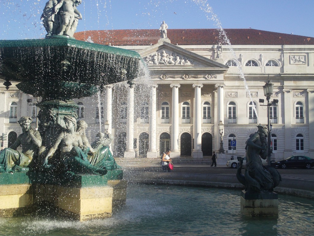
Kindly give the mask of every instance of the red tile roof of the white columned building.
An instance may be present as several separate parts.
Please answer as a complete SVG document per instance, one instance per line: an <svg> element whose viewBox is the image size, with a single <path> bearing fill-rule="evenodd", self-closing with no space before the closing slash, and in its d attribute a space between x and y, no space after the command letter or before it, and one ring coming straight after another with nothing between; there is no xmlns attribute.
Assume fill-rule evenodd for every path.
<svg viewBox="0 0 314 236"><path fill-rule="evenodd" d="M224 29L232 45L313 45L314 38L283 34L255 29ZM219 29L168 29L167 36L172 44L211 45L218 44ZM154 30L90 30L74 34L78 40L90 37L95 43L116 46L156 44L160 38Z"/></svg>

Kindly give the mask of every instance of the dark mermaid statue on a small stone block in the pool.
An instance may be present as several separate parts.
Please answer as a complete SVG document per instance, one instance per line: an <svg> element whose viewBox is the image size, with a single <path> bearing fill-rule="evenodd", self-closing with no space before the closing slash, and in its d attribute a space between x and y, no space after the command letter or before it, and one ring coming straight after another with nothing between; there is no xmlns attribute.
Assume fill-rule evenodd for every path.
<svg viewBox="0 0 314 236"><path fill-rule="evenodd" d="M237 170L237 178L245 185L245 190L250 193L259 193L262 191L272 192L273 188L278 186L281 181L279 172L271 166L263 166L261 158L267 158L268 145L266 127L257 126L258 131L255 132L246 141L246 165L244 175L241 174L243 158Z"/></svg>

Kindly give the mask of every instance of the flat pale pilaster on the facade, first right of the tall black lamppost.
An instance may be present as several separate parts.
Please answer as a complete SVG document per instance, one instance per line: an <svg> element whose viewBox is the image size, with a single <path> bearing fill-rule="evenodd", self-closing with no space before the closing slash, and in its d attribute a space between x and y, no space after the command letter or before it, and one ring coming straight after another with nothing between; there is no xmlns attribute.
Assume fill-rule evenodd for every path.
<svg viewBox="0 0 314 236"><path fill-rule="evenodd" d="M294 110L291 106L292 89L283 89L282 92L284 92L284 158L287 158L293 155L293 151L291 149L291 116Z"/></svg>

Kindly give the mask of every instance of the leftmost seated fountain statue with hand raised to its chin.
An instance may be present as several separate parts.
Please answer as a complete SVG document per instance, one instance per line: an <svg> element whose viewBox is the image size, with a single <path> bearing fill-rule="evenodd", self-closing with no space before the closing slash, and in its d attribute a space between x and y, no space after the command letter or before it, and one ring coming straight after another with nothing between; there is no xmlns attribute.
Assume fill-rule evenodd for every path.
<svg viewBox="0 0 314 236"><path fill-rule="evenodd" d="M0 152L0 172L27 172L35 166L38 148L41 146L41 136L30 126L32 118L22 116L18 121L23 133L15 143ZM22 152L16 149L22 145Z"/></svg>

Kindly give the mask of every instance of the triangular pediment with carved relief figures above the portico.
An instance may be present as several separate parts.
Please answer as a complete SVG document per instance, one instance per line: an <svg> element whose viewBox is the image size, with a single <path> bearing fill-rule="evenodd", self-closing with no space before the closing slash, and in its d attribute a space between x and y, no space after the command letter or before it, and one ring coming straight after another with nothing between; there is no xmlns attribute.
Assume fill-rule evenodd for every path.
<svg viewBox="0 0 314 236"><path fill-rule="evenodd" d="M219 62L165 41L154 44L138 53L149 67L219 68L225 70L229 68Z"/></svg>

